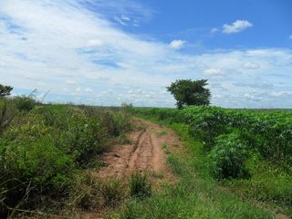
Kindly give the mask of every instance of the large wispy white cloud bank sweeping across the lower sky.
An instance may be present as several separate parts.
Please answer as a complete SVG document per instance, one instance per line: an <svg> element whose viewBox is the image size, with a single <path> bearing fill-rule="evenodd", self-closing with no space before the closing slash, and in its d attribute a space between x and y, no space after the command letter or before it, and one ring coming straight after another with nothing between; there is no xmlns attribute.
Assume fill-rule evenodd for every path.
<svg viewBox="0 0 292 219"><path fill-rule="evenodd" d="M110 18L78 2L0 1L0 14L7 17L0 19L2 83L12 85L17 93L51 89L47 101L78 98L78 103L92 104L88 99L95 99L94 104L98 105L120 105L126 101L136 106L174 107L175 101L165 91L166 86L179 78L206 78L214 93L213 104L292 108L287 93L275 96L290 90L289 48L177 52L167 43L122 31ZM106 5L108 1L92 2ZM125 10L117 15L129 16L131 21L137 17ZM18 28L12 31L12 25ZM260 68L255 68L255 64ZM246 70L251 68L255 70ZM236 86L238 81L242 83ZM265 83L257 86L258 81ZM94 92L86 92L86 88ZM251 89L256 92L251 93ZM255 98L260 94L262 98L256 102L247 99L245 93Z"/></svg>

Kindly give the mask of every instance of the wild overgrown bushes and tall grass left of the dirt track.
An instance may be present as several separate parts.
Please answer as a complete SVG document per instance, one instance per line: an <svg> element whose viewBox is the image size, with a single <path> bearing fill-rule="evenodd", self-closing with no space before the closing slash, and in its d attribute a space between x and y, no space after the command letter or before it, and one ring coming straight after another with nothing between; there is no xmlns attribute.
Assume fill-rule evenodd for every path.
<svg viewBox="0 0 292 219"><path fill-rule="evenodd" d="M120 110L0 99L0 217L68 199L82 170L130 127L129 115Z"/></svg>

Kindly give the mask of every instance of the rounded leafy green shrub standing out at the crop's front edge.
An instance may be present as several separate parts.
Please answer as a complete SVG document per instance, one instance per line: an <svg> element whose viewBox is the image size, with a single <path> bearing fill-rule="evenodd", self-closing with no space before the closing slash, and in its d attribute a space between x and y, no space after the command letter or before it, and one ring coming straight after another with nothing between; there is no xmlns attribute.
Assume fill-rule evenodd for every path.
<svg viewBox="0 0 292 219"><path fill-rule="evenodd" d="M214 149L209 154L211 168L217 179L248 176L245 168L248 157L245 143L235 132L216 138Z"/></svg>

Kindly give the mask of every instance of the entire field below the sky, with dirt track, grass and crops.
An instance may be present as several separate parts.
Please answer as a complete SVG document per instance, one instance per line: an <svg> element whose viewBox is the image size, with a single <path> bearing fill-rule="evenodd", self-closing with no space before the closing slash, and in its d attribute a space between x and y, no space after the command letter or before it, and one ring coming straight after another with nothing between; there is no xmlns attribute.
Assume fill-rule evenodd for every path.
<svg viewBox="0 0 292 219"><path fill-rule="evenodd" d="M0 99L1 218L290 218L292 111Z"/></svg>

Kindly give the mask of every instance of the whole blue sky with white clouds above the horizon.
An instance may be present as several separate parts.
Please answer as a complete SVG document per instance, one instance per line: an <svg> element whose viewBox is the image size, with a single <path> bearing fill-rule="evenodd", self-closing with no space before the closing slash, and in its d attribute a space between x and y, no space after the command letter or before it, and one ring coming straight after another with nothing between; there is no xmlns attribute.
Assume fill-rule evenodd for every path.
<svg viewBox="0 0 292 219"><path fill-rule="evenodd" d="M0 84L13 95L175 107L176 79L211 103L292 108L291 0L0 0Z"/></svg>

